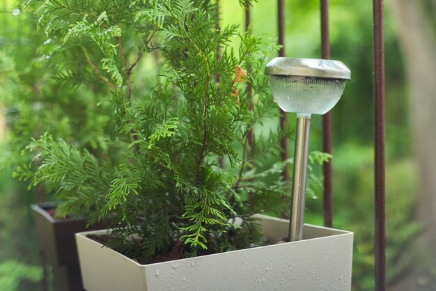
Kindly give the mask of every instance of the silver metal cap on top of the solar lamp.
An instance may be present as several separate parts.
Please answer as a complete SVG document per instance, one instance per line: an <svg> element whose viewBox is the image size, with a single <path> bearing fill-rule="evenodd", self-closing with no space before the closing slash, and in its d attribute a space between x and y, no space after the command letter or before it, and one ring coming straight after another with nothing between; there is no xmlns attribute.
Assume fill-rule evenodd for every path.
<svg viewBox="0 0 436 291"><path fill-rule="evenodd" d="M318 58L273 58L265 74L350 80L350 69L341 61Z"/></svg>

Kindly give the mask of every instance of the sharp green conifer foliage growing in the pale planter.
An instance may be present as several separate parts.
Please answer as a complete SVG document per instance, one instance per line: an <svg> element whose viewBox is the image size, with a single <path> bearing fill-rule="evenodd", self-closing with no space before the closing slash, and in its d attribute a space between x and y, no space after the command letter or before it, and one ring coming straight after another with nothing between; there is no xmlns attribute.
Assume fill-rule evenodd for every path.
<svg viewBox="0 0 436 291"><path fill-rule="evenodd" d="M97 81L106 93L100 103L113 111L114 132L102 136L102 152L48 133L27 146L40 163L35 184L63 200L59 214L85 209L91 223L112 223L109 245L143 262L171 258L179 241L185 256L265 243L250 217L288 208L289 184L279 173L292 162L279 162L279 139L289 132L249 142L252 130L279 114L262 74L274 41L237 36L237 26L217 30L212 1L24 6L40 14L57 79L72 88ZM238 49L231 48L235 38ZM147 65L153 60L157 66ZM262 171L272 158L277 164ZM311 156L313 163L327 158ZM315 177L309 187L319 183Z"/></svg>

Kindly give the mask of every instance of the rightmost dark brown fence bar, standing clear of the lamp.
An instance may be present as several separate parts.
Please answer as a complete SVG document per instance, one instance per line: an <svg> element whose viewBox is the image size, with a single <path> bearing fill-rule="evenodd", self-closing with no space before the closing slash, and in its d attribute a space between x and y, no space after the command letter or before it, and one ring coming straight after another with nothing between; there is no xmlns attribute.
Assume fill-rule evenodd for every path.
<svg viewBox="0 0 436 291"><path fill-rule="evenodd" d="M384 229L384 42L383 0L373 0L374 150L375 150L375 290L386 290Z"/></svg>

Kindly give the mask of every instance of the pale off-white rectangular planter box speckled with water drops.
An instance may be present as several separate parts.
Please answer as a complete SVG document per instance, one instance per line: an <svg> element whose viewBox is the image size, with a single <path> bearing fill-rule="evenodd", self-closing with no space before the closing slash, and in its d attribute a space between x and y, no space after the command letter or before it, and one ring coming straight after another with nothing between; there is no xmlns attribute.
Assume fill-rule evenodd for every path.
<svg viewBox="0 0 436 291"><path fill-rule="evenodd" d="M288 221L261 219L271 239L287 237ZM196 258L140 265L77 233L84 288L88 291L350 290L353 234L304 226L304 239Z"/></svg>

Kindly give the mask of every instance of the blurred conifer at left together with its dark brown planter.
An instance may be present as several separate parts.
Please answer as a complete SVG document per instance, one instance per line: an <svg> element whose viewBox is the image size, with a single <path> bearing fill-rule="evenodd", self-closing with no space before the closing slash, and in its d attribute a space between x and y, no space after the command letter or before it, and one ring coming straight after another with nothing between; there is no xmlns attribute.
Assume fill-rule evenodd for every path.
<svg viewBox="0 0 436 291"><path fill-rule="evenodd" d="M112 132L108 124L111 111L105 104L97 106L96 100L100 100L106 90L97 86L98 80L88 79L86 87L65 86L70 83L71 74L61 68L63 53L52 54L56 35L47 38L44 31L35 33L36 19L23 11L20 16L29 22L27 28L31 29L22 29L20 38L17 37L17 41L11 38L0 53L0 100L8 125L8 146L1 167L8 171L13 169L10 170L14 171L13 175L22 180L14 198L16 203L32 203L35 223L29 222L27 227L33 229L36 224L47 285L54 285L56 290L82 290L74 235L102 226L86 227L88 221L83 210L69 212L67 219L56 216L54 210L58 203L45 201L63 198L55 196L57 189L49 184L40 183L33 191L26 192L33 178L32 171L40 166L40 161L36 159L32 168L29 164L35 157L22 150L32 138L49 130L56 139L74 143L77 148L86 148L97 155L105 148L104 132ZM31 234L29 241L33 241ZM49 276L49 270L54 276Z"/></svg>

